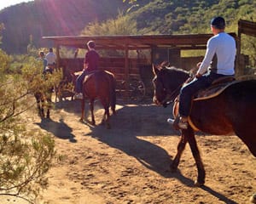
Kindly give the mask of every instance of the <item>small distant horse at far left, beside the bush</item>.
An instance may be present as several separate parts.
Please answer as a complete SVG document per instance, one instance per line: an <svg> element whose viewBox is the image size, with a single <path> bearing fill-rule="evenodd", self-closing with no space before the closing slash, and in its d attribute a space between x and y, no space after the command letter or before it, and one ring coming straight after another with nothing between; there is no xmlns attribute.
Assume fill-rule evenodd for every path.
<svg viewBox="0 0 256 204"><path fill-rule="evenodd" d="M44 79L47 80L47 75L52 74L51 70L46 70L44 72ZM51 96L52 96L52 92L54 87L45 87L45 85L43 85L41 88L39 88L40 90L37 90L34 92L34 97L37 101L37 108L38 108L38 116L44 118L45 114L44 114L44 109L46 108L46 118L49 118L49 110L52 106L52 100L51 100Z"/></svg>

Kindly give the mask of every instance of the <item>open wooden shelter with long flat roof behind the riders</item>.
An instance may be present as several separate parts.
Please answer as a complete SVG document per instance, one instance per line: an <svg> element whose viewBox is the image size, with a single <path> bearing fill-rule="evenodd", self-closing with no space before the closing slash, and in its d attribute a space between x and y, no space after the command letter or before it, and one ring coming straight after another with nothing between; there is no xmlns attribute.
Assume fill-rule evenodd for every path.
<svg viewBox="0 0 256 204"><path fill-rule="evenodd" d="M236 33L230 33L230 35L237 38ZM109 71L113 71L114 74L119 74L120 79L128 81L131 75L139 73L138 67L142 67L143 65L151 67L152 63L169 61L171 62L171 65L175 65L177 67L187 67L187 69L191 68L191 65L195 65L198 61L200 61L203 58L203 56L201 56L200 58L192 57L183 59L181 57L181 51L198 49L204 50L206 49L207 46L207 40L210 37L212 37L212 34L90 37L63 36L43 38L45 40L53 42L56 48L56 55L58 60L57 65L61 65L61 46L73 48L86 48L86 42L93 40L96 42L97 50L122 50L124 52L124 57L122 59L105 59L104 63L102 63L102 66L106 66L103 68ZM147 62L145 60L137 60L137 62L140 61L140 64L138 65L137 63L133 63L134 61L132 61L129 58L130 51L137 51L137 54L139 54L139 50L146 49L148 49L150 53L150 59L148 59ZM137 59L139 59L139 56L137 57ZM82 59L80 59L80 61L81 60ZM81 65L81 63L79 65ZM110 63L111 65L109 65ZM131 65L133 67L131 67ZM150 70L148 68L146 72L148 71L151 71L151 68ZM127 86L125 87L125 89L128 89Z"/></svg>

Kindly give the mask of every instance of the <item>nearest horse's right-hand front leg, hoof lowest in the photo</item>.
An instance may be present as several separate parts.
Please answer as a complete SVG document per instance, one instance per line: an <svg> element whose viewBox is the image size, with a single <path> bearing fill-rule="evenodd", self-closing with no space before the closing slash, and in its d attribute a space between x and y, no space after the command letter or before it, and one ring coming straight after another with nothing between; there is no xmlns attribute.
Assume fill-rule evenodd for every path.
<svg viewBox="0 0 256 204"><path fill-rule="evenodd" d="M195 185L201 186L205 184L206 171L203 162L201 161L200 151L198 150L198 146L196 144L194 130L191 127L189 127L187 130L183 130L183 133L185 137L188 139L189 146L192 151L192 155L195 159L195 164L197 167L198 175L195 181Z"/></svg>

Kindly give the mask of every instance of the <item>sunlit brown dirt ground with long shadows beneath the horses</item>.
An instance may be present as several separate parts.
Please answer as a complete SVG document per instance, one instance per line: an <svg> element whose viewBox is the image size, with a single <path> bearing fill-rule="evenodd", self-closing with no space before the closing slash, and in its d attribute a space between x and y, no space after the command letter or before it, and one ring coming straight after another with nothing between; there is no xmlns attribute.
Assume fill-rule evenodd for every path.
<svg viewBox="0 0 256 204"><path fill-rule="evenodd" d="M48 173L49 188L40 203L250 203L256 192L256 159L236 136L197 134L207 172L206 185L198 188L189 145L177 173L169 170L180 135L166 123L171 106L118 100L112 128L106 129L98 124L103 111L96 105L96 126L79 122L79 101L57 102L50 120L36 114L27 118L27 127L55 137L61 158ZM20 202L11 198L7 203Z"/></svg>

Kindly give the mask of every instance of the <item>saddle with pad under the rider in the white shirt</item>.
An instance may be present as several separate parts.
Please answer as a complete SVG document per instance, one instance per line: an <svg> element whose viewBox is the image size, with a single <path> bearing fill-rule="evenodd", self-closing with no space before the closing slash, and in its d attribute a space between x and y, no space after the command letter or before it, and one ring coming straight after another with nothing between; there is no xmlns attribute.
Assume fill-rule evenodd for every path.
<svg viewBox="0 0 256 204"><path fill-rule="evenodd" d="M209 88L202 89L195 94L193 100L211 99L236 82L238 81L236 81L235 77L220 77L214 80Z"/></svg>

